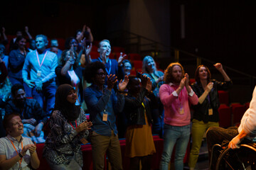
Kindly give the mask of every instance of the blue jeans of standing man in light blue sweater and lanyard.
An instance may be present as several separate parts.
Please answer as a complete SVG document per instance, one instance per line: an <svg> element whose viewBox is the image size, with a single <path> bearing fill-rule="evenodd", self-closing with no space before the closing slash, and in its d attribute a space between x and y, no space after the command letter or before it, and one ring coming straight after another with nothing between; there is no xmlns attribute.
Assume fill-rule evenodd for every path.
<svg viewBox="0 0 256 170"><path fill-rule="evenodd" d="M55 83L52 84L43 84L42 91L36 91L36 88L32 89L32 96L36 101L38 101L41 108L43 108L43 99L46 100L46 113L50 115L52 109L55 105L55 93L57 86Z"/></svg>

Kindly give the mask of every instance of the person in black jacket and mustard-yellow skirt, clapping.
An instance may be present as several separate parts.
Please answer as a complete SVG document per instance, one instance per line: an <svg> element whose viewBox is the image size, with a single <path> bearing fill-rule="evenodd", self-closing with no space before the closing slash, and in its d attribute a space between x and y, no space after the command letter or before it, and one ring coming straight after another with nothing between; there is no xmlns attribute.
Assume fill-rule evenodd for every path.
<svg viewBox="0 0 256 170"><path fill-rule="evenodd" d="M157 107L156 99L151 93L150 78L129 76L128 95L125 96L124 113L127 115L126 156L130 158L129 169L150 169L151 155L156 152L151 134L151 108ZM149 94L149 95L148 95ZM146 98L146 95L149 98Z"/></svg>

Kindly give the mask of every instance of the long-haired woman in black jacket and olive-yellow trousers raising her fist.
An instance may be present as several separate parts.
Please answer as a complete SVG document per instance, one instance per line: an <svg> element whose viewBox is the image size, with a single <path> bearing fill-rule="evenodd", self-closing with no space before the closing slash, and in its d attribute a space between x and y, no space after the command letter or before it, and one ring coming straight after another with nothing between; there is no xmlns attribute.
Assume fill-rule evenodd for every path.
<svg viewBox="0 0 256 170"><path fill-rule="evenodd" d="M225 73L222 64L216 63L214 67L223 75L225 81L211 80L208 67L200 65L196 69L196 82L191 86L198 96L198 104L193 106L192 148L188 162L190 169L194 169L196 166L203 134L208 128L219 126L218 90L228 90L232 85L232 81Z"/></svg>

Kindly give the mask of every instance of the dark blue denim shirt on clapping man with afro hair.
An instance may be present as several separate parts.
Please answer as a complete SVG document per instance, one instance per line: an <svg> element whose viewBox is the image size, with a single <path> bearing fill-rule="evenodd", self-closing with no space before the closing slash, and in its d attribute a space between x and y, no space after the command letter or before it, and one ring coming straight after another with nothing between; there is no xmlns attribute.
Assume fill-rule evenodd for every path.
<svg viewBox="0 0 256 170"><path fill-rule="evenodd" d="M124 96L115 94L114 90L107 90L103 87L103 93L98 86L92 84L85 89L85 103L90 113L92 130L99 135L111 136L111 131L117 135L117 125L115 124L115 113L122 112L124 108ZM103 113L107 114L107 121L103 121Z"/></svg>

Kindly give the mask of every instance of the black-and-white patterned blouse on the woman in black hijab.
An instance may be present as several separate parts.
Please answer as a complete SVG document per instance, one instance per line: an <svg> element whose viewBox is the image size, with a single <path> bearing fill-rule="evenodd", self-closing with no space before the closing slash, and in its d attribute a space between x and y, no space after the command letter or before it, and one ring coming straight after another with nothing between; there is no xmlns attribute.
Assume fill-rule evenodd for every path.
<svg viewBox="0 0 256 170"><path fill-rule="evenodd" d="M85 112L82 111L82 109L76 122L69 122L60 111L53 111L49 120L50 133L46 138L46 143L43 148L43 157L45 157L50 164L67 165L72 159L75 159L82 167L80 140L87 138L89 131L85 130L78 134L74 128L85 120Z"/></svg>

